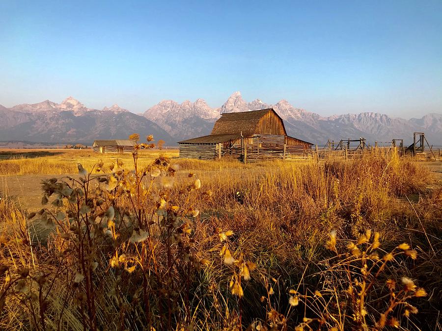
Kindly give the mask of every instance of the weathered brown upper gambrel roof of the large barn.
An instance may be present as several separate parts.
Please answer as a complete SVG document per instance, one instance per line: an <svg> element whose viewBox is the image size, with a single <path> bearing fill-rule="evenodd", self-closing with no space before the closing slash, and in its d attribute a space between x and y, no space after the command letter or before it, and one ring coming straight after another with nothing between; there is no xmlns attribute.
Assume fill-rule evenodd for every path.
<svg viewBox="0 0 442 331"><path fill-rule="evenodd" d="M243 135L255 133L256 127L258 126L259 120L269 111L273 111L277 117L281 120L284 132L286 132L284 127L284 121L276 113L273 108L261 109L261 110L250 110L242 111L238 113L224 113L221 115L220 119L215 122L215 126L212 129L211 134L231 134L243 132Z"/></svg>

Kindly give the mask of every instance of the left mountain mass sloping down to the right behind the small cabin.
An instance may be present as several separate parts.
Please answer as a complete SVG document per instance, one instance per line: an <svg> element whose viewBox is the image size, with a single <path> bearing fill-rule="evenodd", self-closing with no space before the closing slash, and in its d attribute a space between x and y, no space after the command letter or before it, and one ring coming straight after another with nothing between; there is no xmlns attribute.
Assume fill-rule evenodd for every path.
<svg viewBox="0 0 442 331"><path fill-rule="evenodd" d="M47 100L0 107L0 118L0 140L91 144L95 139L125 139L136 132L141 137L153 134L167 144L174 143L157 124L116 104L98 110L72 97L59 104Z"/></svg>

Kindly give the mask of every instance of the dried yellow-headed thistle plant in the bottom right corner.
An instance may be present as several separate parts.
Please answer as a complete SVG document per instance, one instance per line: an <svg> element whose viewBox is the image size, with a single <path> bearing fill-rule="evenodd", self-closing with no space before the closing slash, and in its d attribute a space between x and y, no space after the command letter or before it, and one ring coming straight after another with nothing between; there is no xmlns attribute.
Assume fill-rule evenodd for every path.
<svg viewBox="0 0 442 331"><path fill-rule="evenodd" d="M388 276L389 268L394 268L401 256L417 258L409 244L381 253L380 233L366 230L348 243L344 253L339 253L337 246L336 231L332 231L326 248L335 256L322 261L325 270L316 275L323 282L322 289L307 289L304 294L291 290L314 316L304 318L299 330L314 324L331 330L398 328L400 317L393 316L395 313L403 310L406 318L417 313L410 299L426 296L425 290L407 277L397 281Z"/></svg>

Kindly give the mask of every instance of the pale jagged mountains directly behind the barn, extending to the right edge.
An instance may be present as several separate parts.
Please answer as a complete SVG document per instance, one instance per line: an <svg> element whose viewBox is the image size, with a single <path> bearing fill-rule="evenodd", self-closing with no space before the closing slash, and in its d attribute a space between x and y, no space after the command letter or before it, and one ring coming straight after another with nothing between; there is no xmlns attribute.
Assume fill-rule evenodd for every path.
<svg viewBox="0 0 442 331"><path fill-rule="evenodd" d="M171 100L163 101L146 110L144 116L164 128L177 141L209 134L220 114L273 107L284 120L289 135L318 145L325 144L328 139L339 141L359 137L365 137L372 144L375 140L389 142L393 138L409 143L413 140L414 131L424 131L430 143L442 145L442 114L429 114L411 120L374 112L322 117L296 108L286 100L276 104L259 99L247 102L240 92L233 93L220 108L211 108L203 102L204 110L195 111L188 104L193 105L191 102L179 104Z"/></svg>

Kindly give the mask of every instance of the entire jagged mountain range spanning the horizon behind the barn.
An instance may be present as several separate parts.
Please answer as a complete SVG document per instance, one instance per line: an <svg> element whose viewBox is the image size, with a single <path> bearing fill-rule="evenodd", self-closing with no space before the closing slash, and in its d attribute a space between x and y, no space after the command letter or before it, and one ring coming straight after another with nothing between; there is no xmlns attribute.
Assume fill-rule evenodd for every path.
<svg viewBox="0 0 442 331"><path fill-rule="evenodd" d="M61 103L49 100L20 104L11 108L0 105L0 140L91 144L94 139L127 138L137 132L153 134L168 145L191 137L210 134L215 121L225 112L239 112L273 107L284 120L291 136L324 145L328 139L365 137L388 142L392 138L413 140L414 131L423 131L430 144L442 145L442 114L427 114L420 119L405 120L385 114L359 114L322 117L296 108L286 100L267 104L259 99L246 102L240 92L233 93L219 108L203 99L178 103L164 100L134 114L117 104L101 110L87 108L72 97Z"/></svg>

